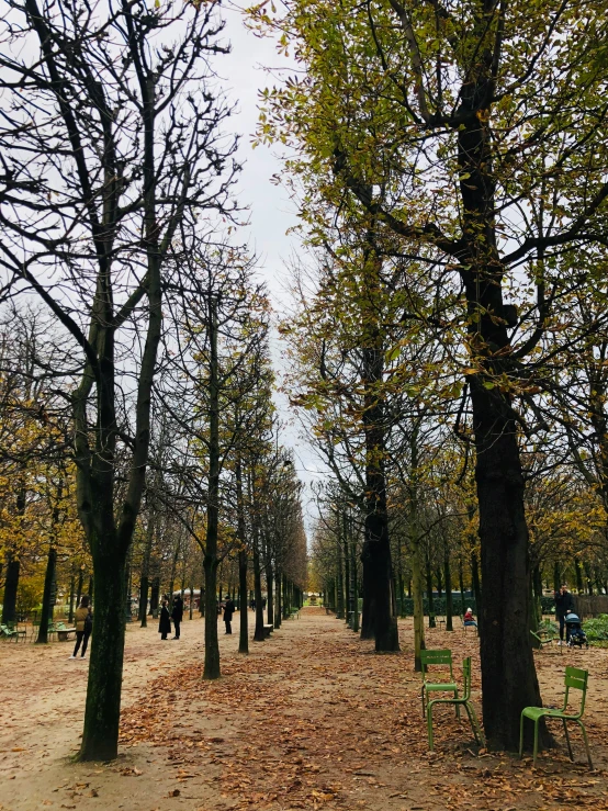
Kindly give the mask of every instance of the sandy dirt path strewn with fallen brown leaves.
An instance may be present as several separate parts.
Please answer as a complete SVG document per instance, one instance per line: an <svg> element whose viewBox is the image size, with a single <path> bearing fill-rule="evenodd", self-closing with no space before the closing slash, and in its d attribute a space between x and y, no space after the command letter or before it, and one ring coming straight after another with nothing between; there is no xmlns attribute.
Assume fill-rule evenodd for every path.
<svg viewBox="0 0 608 811"><path fill-rule="evenodd" d="M399 624L402 654L390 656L320 609L251 643L249 656L236 653L236 635L222 634L223 678L214 683L200 678L202 622L183 628L179 643L164 645L155 628L128 629L123 746L109 765L67 761L78 747L87 665L68 662L61 644L2 645L0 808L608 809L607 650L538 654L548 703L559 702L565 664L588 667L596 770L585 767L576 732L577 764L561 747L533 770L529 761L478 756L470 728L448 710L437 714L437 752L428 752L410 622ZM429 645L478 665L472 634L431 631ZM476 690L474 700L480 708Z"/></svg>

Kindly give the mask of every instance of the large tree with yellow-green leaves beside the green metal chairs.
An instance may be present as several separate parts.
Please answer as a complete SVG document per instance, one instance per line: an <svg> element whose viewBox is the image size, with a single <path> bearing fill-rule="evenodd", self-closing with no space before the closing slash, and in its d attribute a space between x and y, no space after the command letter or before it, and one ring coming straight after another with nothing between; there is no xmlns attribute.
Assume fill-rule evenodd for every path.
<svg viewBox="0 0 608 811"><path fill-rule="evenodd" d="M522 707L540 702L517 403L534 388L555 312L587 282L570 272L574 251L605 244L605 11L558 0L252 9L305 72L267 92L260 139L300 150L290 168L303 180L313 233L323 233L328 202L367 211L394 251L427 263L436 301L460 302L458 320L438 323L454 357L465 349L492 594L480 631L493 747L513 748ZM434 307L426 302L427 322Z"/></svg>

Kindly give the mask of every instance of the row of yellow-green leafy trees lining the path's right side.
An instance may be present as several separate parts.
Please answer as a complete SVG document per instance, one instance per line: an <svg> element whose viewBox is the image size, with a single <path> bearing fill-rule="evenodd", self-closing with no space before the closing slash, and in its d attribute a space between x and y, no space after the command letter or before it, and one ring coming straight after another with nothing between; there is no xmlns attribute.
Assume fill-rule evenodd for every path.
<svg viewBox="0 0 608 811"><path fill-rule="evenodd" d="M294 402L363 515L379 651L398 645L395 499L418 604L424 514L460 502L459 515L476 517L493 747L514 748L522 707L541 702L530 530L542 544L550 512L537 522L527 507L552 488L579 516L587 505L605 567L606 11L587 0L284 0L249 12L299 68L262 93L258 136L288 147L316 270L313 285L296 273L285 326ZM429 471L435 494L471 469L474 498L427 493ZM417 626L417 647L420 635Z"/></svg>

